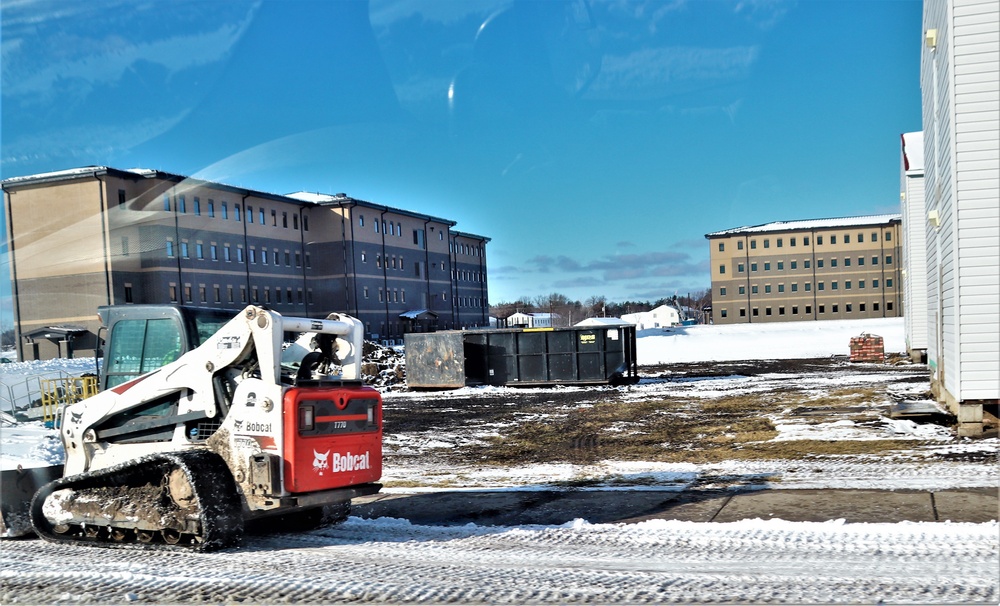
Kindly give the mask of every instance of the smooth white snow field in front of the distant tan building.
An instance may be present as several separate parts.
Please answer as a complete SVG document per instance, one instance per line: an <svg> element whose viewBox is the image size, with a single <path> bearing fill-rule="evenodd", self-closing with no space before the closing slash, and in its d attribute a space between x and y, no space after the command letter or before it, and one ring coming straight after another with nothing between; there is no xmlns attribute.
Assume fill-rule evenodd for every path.
<svg viewBox="0 0 1000 606"><path fill-rule="evenodd" d="M850 355L851 337L883 338L886 353L906 351L903 318L699 324L639 331L639 366L727 360L791 360Z"/></svg>

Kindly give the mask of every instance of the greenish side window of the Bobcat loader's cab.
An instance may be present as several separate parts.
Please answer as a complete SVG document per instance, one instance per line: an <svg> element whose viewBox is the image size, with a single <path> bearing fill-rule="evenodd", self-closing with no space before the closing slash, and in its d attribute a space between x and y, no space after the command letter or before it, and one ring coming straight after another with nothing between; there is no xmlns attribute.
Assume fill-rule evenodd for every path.
<svg viewBox="0 0 1000 606"><path fill-rule="evenodd" d="M109 339L104 389L169 364L183 351L181 327L172 318L120 320Z"/></svg>

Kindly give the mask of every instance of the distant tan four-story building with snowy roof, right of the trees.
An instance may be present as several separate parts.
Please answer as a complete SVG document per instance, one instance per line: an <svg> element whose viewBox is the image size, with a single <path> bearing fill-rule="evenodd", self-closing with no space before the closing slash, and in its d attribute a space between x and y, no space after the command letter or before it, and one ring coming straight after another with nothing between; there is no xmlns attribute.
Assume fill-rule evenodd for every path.
<svg viewBox="0 0 1000 606"><path fill-rule="evenodd" d="M902 316L900 215L710 234L716 324Z"/></svg>

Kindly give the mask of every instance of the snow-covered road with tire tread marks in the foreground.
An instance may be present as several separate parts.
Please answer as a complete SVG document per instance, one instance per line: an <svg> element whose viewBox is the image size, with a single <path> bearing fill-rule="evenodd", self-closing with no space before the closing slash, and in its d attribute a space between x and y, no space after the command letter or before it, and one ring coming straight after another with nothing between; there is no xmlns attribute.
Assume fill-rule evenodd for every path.
<svg viewBox="0 0 1000 606"><path fill-rule="evenodd" d="M7 541L0 602L996 602L994 524L414 526L361 520L211 554Z"/></svg>

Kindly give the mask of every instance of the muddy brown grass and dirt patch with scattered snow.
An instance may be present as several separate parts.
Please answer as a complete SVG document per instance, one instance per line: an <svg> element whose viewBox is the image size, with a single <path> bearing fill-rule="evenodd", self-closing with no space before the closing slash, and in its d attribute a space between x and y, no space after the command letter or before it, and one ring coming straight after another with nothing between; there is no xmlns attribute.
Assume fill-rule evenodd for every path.
<svg viewBox="0 0 1000 606"><path fill-rule="evenodd" d="M911 451L919 441L877 437L886 432L864 440L772 438L776 424L788 422L849 422L875 431L892 403L930 397L927 367L906 359L670 364L643 367L640 375L639 385L626 387L399 393L386 398L385 433L389 443L414 435L445 440L447 447L432 449L433 455L462 465L883 455ZM700 387L708 384L718 385L711 392ZM954 424L946 414L917 421ZM995 427L988 429L995 435ZM395 457L405 455L388 448L387 465Z"/></svg>

